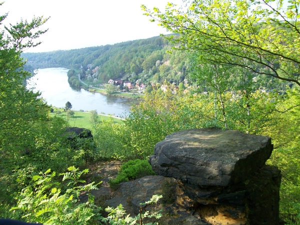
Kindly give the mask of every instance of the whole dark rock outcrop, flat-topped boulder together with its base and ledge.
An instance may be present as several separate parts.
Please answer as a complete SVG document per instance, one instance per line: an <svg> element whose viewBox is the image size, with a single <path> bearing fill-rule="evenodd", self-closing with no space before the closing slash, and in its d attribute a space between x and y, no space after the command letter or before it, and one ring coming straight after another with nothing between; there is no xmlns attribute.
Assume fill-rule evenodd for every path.
<svg viewBox="0 0 300 225"><path fill-rule="evenodd" d="M137 213L139 202L165 195L160 207L175 215L165 224L278 224L281 174L265 165L271 152L265 136L215 128L175 132L149 158L158 176L121 183L119 196Z"/></svg>

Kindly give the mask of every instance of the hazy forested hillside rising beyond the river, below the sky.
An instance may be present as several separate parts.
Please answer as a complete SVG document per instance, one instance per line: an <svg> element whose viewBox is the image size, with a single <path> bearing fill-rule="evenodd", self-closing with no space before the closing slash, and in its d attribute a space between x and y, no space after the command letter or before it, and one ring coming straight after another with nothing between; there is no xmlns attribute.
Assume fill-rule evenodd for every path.
<svg viewBox="0 0 300 225"><path fill-rule="evenodd" d="M131 75L131 79L140 78L143 82L167 79L178 84L184 79L185 57L179 52L166 53L169 48L164 37L156 36L72 50L26 52L22 56L29 64L38 63L39 67L56 65L80 70L83 77L90 75L97 82Z"/></svg>

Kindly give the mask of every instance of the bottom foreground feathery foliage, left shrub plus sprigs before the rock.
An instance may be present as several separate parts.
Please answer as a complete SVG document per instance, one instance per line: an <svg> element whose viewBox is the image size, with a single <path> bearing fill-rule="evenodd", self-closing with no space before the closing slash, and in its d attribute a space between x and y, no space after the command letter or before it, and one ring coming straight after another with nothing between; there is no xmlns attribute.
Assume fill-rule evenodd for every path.
<svg viewBox="0 0 300 225"><path fill-rule="evenodd" d="M34 175L29 185L16 195L16 205L9 210L10 217L44 224L101 224L100 221L109 224L135 224L137 220L142 224L144 218L161 217L161 210L156 211L156 207L153 212L146 211L135 218L125 216L126 212L121 204L116 208L105 208L109 214L106 218L102 217L101 208L93 203L93 195L88 193L97 189L97 184L91 182L82 185L85 181L80 177L87 172L88 169L79 171L78 168L70 166L68 172L59 174L63 175L62 182L54 180L56 173L51 173L50 169L39 172L39 175ZM82 191L88 193L86 202L79 200ZM161 197L153 195L143 205L156 204Z"/></svg>

